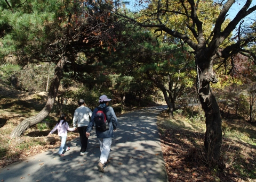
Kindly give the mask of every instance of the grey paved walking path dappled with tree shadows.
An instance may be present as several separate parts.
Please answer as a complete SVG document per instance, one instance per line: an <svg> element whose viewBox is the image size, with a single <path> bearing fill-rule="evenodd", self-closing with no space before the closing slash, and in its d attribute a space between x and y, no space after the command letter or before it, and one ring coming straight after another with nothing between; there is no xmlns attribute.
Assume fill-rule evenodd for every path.
<svg viewBox="0 0 256 182"><path fill-rule="evenodd" d="M118 117L110 151L110 163L99 172L100 149L91 132L87 155L79 155L79 138L68 142L70 151L58 156L58 148L29 157L0 169L0 180L27 181L168 181L164 166L156 116L166 106L150 107Z"/></svg>

